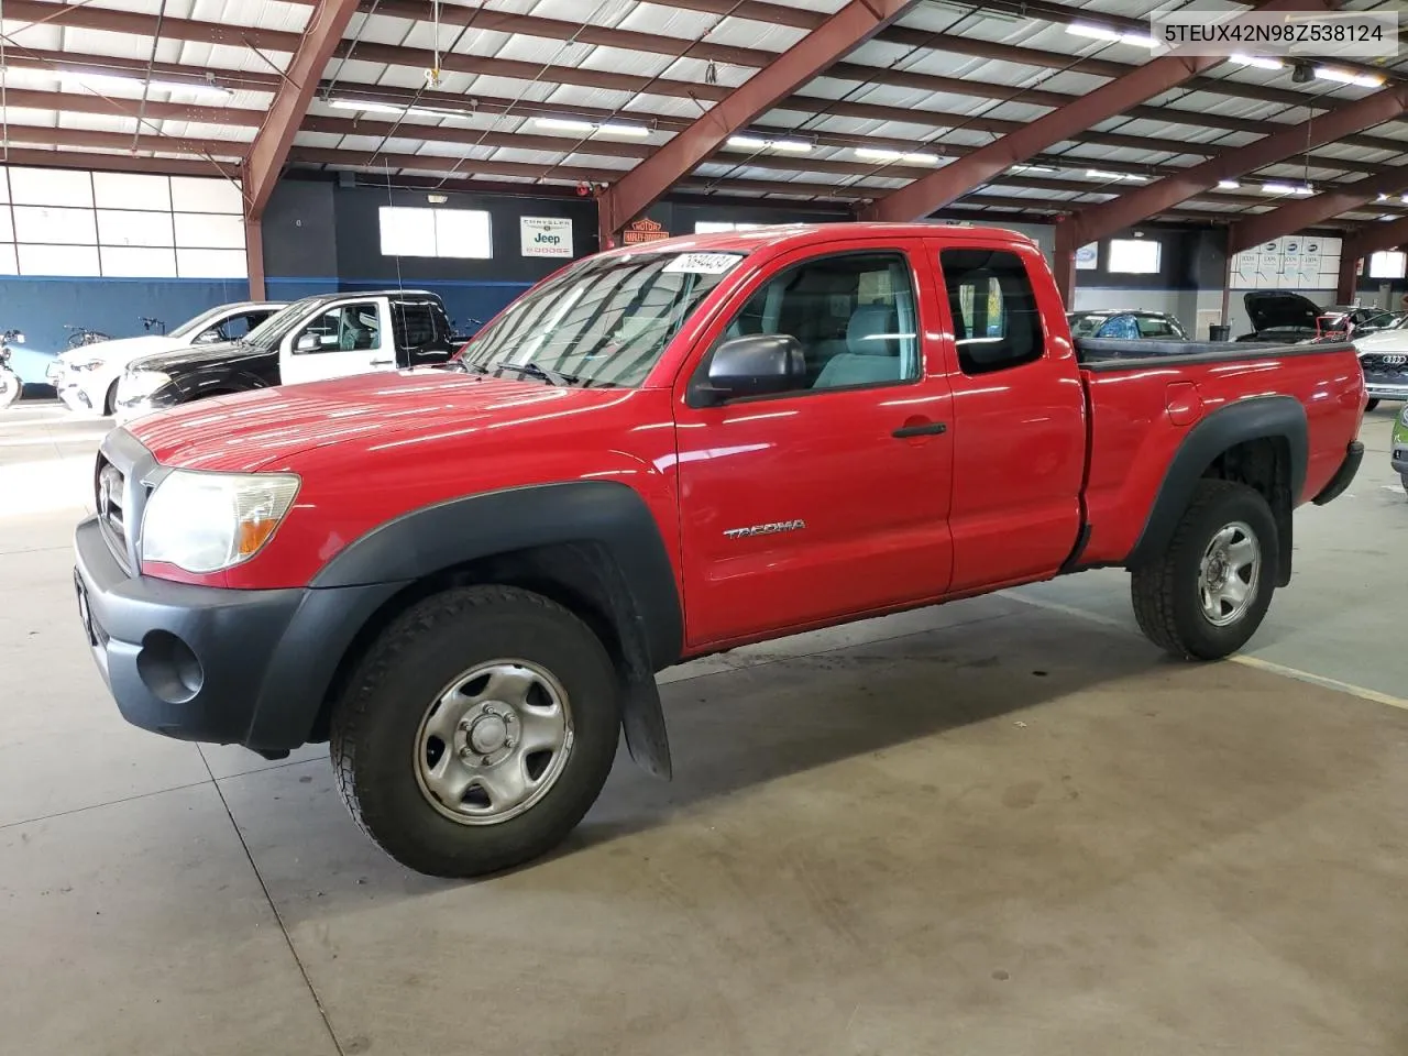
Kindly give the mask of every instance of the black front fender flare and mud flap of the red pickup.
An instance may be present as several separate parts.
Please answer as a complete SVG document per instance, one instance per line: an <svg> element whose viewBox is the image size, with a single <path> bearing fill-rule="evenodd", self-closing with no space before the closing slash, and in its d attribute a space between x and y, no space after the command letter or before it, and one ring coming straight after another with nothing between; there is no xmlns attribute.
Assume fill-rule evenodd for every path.
<svg viewBox="0 0 1408 1056"><path fill-rule="evenodd" d="M684 614L659 525L628 484L535 484L421 507L352 542L310 586L417 582L524 551L546 551L555 579L576 579L576 586L605 608L621 650L627 746L646 770L669 777L669 739L655 672L679 662Z"/></svg>

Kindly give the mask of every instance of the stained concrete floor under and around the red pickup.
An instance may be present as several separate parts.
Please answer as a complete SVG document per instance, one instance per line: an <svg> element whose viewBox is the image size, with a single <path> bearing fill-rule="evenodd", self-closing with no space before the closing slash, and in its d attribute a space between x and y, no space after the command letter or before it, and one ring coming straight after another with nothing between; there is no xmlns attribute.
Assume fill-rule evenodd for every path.
<svg viewBox="0 0 1408 1056"><path fill-rule="evenodd" d="M667 674L673 784L621 765L560 855L453 884L320 749L118 718L69 582L100 427L11 410L0 1052L1400 1056L1391 413L1260 666L1163 660L1117 573L739 650Z"/></svg>

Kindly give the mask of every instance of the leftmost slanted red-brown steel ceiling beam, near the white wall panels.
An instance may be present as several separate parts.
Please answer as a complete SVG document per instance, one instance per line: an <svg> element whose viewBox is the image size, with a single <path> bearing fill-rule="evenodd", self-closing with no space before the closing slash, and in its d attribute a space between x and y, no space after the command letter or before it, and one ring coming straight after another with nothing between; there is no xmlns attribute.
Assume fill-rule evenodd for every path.
<svg viewBox="0 0 1408 1056"><path fill-rule="evenodd" d="M249 144L245 163L245 220L258 222L273 194L293 137L328 66L334 48L356 13L356 0L318 0L303 27L301 41L284 70L263 124ZM165 31L165 24L163 24ZM251 296L255 296L251 291ZM262 296L262 291L260 294Z"/></svg>

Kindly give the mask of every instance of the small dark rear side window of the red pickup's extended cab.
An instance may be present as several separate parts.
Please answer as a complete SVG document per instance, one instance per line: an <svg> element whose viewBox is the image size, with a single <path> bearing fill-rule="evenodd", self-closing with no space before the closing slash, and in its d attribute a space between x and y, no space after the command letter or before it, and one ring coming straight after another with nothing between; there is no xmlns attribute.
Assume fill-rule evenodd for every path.
<svg viewBox="0 0 1408 1056"><path fill-rule="evenodd" d="M1036 294L1017 253L943 249L939 266L963 373L986 375L1042 358Z"/></svg>

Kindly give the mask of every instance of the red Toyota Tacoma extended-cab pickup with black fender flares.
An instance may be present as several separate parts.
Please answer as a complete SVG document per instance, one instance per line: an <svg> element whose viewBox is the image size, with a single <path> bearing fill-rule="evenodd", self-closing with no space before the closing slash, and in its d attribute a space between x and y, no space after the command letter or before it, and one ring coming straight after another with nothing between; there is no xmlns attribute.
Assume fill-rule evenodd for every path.
<svg viewBox="0 0 1408 1056"><path fill-rule="evenodd" d="M1291 511L1347 487L1349 345L1073 344L1036 246L780 227L579 260L449 369L114 429L76 532L121 712L270 758L331 741L413 869L541 855L655 673L1095 566L1171 653L1238 649Z"/></svg>

